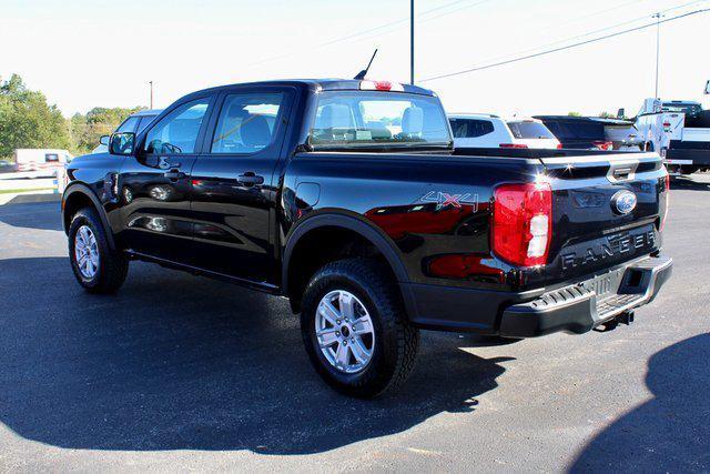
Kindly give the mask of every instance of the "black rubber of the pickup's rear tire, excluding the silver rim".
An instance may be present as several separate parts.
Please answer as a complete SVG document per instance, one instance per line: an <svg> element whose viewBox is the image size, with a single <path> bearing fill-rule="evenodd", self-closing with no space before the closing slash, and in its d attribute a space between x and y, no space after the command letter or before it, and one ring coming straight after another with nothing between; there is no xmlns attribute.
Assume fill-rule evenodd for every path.
<svg viewBox="0 0 710 474"><path fill-rule="evenodd" d="M356 373L334 367L315 334L318 304L336 290L355 295L373 322L372 357ZM303 295L301 332L311 362L323 380L336 391L359 399L372 399L402 385L414 367L419 345L419 331L406 319L395 281L382 264L369 259L332 262L313 275Z"/></svg>

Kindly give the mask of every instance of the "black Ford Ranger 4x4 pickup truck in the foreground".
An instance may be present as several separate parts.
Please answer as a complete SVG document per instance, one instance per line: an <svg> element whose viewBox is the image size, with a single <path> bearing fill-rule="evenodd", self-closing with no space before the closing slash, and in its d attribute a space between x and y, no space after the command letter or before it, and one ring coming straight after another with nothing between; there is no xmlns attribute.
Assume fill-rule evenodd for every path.
<svg viewBox="0 0 710 474"><path fill-rule="evenodd" d="M189 94L68 167L77 280L133 259L286 296L313 365L399 385L419 329L528 337L629 322L669 278L655 153L454 149L432 91L367 80Z"/></svg>

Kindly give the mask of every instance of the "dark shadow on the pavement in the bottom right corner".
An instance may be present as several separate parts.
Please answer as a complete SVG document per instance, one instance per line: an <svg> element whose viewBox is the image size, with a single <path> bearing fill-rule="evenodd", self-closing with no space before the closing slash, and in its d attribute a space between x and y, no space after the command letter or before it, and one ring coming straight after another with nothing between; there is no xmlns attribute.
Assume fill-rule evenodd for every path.
<svg viewBox="0 0 710 474"><path fill-rule="evenodd" d="M599 434L571 472L710 470L710 334L656 353L646 384L653 399Z"/></svg>

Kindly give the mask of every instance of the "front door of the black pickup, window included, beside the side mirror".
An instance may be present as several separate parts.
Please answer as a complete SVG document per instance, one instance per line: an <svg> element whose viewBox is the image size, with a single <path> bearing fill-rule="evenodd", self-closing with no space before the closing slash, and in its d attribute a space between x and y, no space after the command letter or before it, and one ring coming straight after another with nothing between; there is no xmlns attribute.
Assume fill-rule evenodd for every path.
<svg viewBox="0 0 710 474"><path fill-rule="evenodd" d="M190 173L206 129L211 97L179 105L139 139L121 167L122 232L131 250L191 264ZM141 135L143 137L143 135Z"/></svg>

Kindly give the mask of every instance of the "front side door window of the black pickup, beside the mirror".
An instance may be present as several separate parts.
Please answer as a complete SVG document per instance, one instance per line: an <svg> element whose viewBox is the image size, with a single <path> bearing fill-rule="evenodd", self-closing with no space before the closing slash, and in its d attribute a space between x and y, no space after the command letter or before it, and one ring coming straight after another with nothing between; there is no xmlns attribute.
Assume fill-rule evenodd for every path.
<svg viewBox="0 0 710 474"><path fill-rule="evenodd" d="M194 153L209 99L187 102L153 127L145 139L146 153Z"/></svg>

